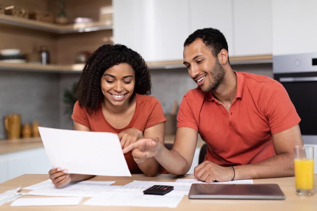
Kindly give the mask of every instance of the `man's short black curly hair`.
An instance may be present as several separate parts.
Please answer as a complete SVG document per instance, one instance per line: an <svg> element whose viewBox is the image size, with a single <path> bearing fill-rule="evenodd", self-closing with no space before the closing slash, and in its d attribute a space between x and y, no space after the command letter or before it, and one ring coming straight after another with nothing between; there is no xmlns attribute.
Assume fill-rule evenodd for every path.
<svg viewBox="0 0 317 211"><path fill-rule="evenodd" d="M203 28L197 29L184 42L184 47L189 46L191 43L201 39L204 44L211 49L212 55L217 58L221 49L228 51L228 43L224 35L216 28ZM229 62L229 57L228 57ZM230 63L229 63L230 64Z"/></svg>

